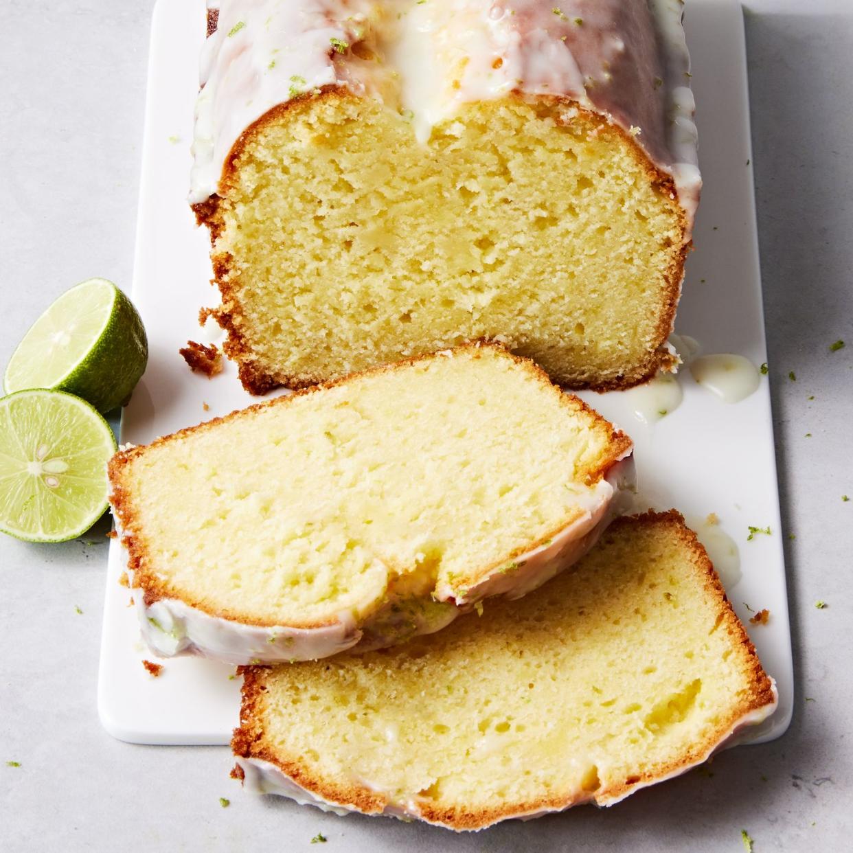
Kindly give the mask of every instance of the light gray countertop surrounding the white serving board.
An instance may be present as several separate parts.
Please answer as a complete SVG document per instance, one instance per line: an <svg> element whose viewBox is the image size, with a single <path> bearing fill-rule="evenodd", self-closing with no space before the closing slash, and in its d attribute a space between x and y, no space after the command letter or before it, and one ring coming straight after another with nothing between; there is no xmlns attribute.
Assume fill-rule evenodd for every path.
<svg viewBox="0 0 853 853"><path fill-rule="evenodd" d="M0 365L71 284L130 287L153 5L0 2ZM798 690L787 734L611 810L460 837L251 798L229 780L223 747L131 746L101 728L106 538L0 536L0 849L316 850L322 832L330 851L736 851L741 828L756 853L849 849L853 4L752 0L746 37ZM830 353L838 338L848 345Z"/></svg>

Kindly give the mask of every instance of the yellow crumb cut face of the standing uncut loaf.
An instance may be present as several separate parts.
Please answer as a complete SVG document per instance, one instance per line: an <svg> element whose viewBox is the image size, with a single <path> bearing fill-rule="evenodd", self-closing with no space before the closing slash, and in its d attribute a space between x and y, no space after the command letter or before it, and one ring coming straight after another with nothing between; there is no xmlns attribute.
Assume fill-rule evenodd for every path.
<svg viewBox="0 0 853 853"><path fill-rule="evenodd" d="M211 224L241 376L301 386L497 337L566 386L659 367L683 213L623 131L565 103L463 106L418 142L338 91L247 134Z"/></svg>

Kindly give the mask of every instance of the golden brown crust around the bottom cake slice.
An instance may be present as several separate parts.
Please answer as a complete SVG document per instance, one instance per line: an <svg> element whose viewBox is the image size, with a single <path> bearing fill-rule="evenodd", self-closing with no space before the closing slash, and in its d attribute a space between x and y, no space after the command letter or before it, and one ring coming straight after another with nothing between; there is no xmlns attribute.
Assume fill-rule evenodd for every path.
<svg viewBox="0 0 853 853"><path fill-rule="evenodd" d="M654 527L657 525L669 528L682 541L683 546L691 554L693 564L698 570L705 591L717 601L720 615L716 630L725 630L733 644L740 647L740 652L745 660L745 670L751 683L748 698L740 702L740 705L734 708L727 718L720 720L717 727L707 735L703 742L694 745L693 749L683 754L676 761L661 762L644 774L630 775L624 780L598 788L595 792L579 792L572 797L546 796L494 808L469 809L461 806L440 808L430 801L423 800L418 805L424 820L455 830L474 830L490 826L497 821L532 815L539 811L567 809L573 805L587 802L595 802L598 805L612 804L638 788L662 781L672 775L678 775L693 765L705 761L720 746L722 739L746 715L750 714L751 711L758 711L774 704L773 682L764 672L755 647L752 645L743 625L740 624L740 620L734 614L705 548L699 543L695 533L684 525L682 514L672 509L666 513L650 511L641 515L624 516L612 523L603 539L614 537L624 527ZM264 666L248 666L241 669L244 681L240 727L235 729L231 740L231 748L235 755L242 758L259 758L274 764L299 786L328 803L357 809L365 814L382 812L390 804L390 799L386 795L375 792L367 786L359 785L355 781L342 784L337 780L313 775L310 767L305 763L300 763L298 757L282 759L281 744L276 744L274 747L264 740L262 724L266 693L264 676L268 670L269 668Z"/></svg>

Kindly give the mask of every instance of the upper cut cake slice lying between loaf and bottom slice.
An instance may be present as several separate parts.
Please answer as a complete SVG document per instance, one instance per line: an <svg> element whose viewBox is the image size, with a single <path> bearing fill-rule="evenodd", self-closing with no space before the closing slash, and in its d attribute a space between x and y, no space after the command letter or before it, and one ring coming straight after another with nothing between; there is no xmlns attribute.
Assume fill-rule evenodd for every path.
<svg viewBox="0 0 853 853"><path fill-rule="evenodd" d="M577 560L631 442L532 363L466 345L120 452L142 634L233 663L382 647Z"/></svg>

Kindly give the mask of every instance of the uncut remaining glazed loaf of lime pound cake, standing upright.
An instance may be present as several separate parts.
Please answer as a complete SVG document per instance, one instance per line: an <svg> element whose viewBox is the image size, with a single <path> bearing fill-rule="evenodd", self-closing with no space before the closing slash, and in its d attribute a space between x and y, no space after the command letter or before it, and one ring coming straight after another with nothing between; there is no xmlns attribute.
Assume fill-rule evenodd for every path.
<svg viewBox="0 0 853 853"><path fill-rule="evenodd" d="M210 0L190 200L254 393L496 339L633 386L699 196L680 0Z"/></svg>

